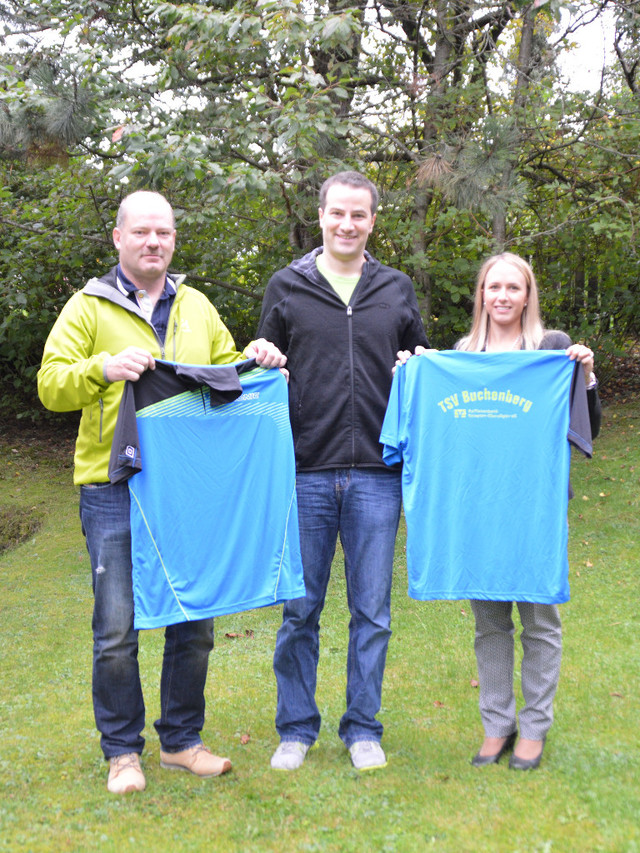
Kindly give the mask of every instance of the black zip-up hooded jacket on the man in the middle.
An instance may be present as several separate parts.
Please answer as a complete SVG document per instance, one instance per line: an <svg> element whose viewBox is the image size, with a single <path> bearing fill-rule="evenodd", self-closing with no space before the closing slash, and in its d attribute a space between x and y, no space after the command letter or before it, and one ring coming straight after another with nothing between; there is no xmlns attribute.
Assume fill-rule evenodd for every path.
<svg viewBox="0 0 640 853"><path fill-rule="evenodd" d="M429 342L411 279L365 253L349 305L316 249L269 281L258 336L287 356L299 471L387 468L378 439L398 350Z"/></svg>

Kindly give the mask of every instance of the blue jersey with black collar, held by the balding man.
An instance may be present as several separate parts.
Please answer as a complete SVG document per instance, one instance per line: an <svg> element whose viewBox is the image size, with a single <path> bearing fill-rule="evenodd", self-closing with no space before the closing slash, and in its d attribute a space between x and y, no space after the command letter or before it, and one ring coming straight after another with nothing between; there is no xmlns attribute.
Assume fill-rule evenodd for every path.
<svg viewBox="0 0 640 853"><path fill-rule="evenodd" d="M136 628L305 594L287 384L278 370L238 375L253 365L157 361L127 383L110 475L135 474Z"/></svg>

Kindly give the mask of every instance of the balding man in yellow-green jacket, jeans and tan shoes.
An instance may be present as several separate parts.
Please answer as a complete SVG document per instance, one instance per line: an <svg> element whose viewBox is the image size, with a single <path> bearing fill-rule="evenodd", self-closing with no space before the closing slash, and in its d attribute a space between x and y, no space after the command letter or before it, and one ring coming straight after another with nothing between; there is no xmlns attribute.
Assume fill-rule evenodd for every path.
<svg viewBox="0 0 640 853"><path fill-rule="evenodd" d="M112 793L146 785L140 765L145 708L133 627L129 491L126 482L111 485L107 473L124 382L153 370L156 358L226 364L254 357L263 367L286 362L263 339L244 354L236 350L209 300L182 276L168 274L175 238L173 210L162 195L127 196L113 230L118 265L69 299L38 372L38 393L47 408L82 410L74 482L80 486L94 591L93 706ZM213 755L200 737L212 648L211 619L167 627L155 723L161 765L202 777L231 769L230 761Z"/></svg>

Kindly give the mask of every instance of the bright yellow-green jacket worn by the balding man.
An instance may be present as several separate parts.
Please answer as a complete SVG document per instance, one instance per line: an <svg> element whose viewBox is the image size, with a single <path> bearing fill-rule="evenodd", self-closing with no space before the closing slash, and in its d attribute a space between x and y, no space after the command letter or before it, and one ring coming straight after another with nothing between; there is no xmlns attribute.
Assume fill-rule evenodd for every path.
<svg viewBox="0 0 640 853"><path fill-rule="evenodd" d="M128 346L183 364L227 364L244 357L207 297L173 278L177 293L162 346L138 306L116 287L115 267L91 279L60 312L44 348L38 394L47 409L82 409L74 483L106 483L124 382L108 382L105 360Z"/></svg>

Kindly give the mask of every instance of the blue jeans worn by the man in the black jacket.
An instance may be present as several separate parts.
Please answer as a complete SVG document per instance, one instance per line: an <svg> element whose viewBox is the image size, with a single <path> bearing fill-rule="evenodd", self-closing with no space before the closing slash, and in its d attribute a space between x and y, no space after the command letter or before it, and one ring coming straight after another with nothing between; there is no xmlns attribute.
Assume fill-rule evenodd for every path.
<svg viewBox="0 0 640 853"><path fill-rule="evenodd" d="M347 581L347 710L339 735L347 747L379 741L382 677L391 636L391 578L400 519L400 474L345 468L298 474L300 546L306 596L284 605L274 654L276 728L282 740L313 744L320 731L315 701L324 607L338 535Z"/></svg>

